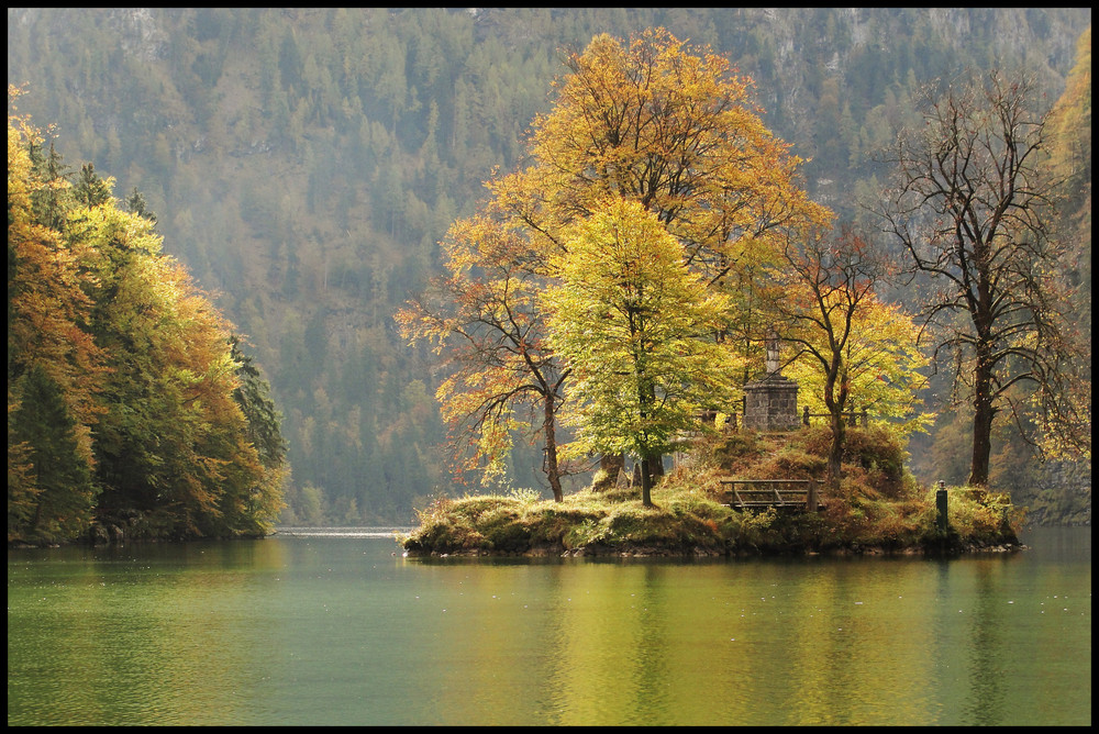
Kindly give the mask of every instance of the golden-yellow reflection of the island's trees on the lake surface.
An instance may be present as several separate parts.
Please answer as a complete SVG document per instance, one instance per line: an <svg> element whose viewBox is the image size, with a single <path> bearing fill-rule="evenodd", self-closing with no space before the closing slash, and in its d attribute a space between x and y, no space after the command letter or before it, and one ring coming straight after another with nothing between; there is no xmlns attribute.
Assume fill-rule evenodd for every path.
<svg viewBox="0 0 1099 734"><path fill-rule="evenodd" d="M836 697L874 700L896 666L912 682L907 697L890 689L895 705L919 721L915 702L935 681L929 657L915 654L935 649L925 608L904 610L912 624L901 643L886 625L866 629L876 645L901 645L908 654L899 658L861 657L843 634L868 621L856 602L903 609L872 583L869 567L853 575L846 566L817 564L813 575L801 563L742 564L732 577L724 564L584 563L529 566L523 575L509 566L507 578L501 567L464 568L460 600L469 605L458 605L453 587L440 603L448 614L464 610L465 623L441 624L435 638L441 657L475 664L445 686L430 666L417 680L452 722L712 726L780 716L785 724L829 723L839 720ZM900 572L906 589L935 581L913 572L920 568ZM522 580L511 586L515 578ZM532 599L542 602L537 609L524 605ZM762 647L782 652L761 654ZM700 649L707 650L701 670ZM500 686L504 676L511 687ZM776 687L776 680L789 682ZM515 686L539 694L517 699Z"/></svg>

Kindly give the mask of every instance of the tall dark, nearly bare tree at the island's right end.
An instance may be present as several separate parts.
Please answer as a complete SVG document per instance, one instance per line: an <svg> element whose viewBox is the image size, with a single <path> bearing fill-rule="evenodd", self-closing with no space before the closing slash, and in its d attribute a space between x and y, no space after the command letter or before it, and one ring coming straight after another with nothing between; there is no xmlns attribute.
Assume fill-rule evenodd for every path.
<svg viewBox="0 0 1099 734"><path fill-rule="evenodd" d="M1062 366L1073 360L1055 278L1063 243L1051 230L1047 118L1026 79L995 70L929 88L923 126L899 137L880 210L928 278L923 318L936 357L953 363L956 394L972 407L969 483L977 486L988 482L997 414L1022 414L1013 386L1034 386L1051 430L1085 422L1062 389Z"/></svg>

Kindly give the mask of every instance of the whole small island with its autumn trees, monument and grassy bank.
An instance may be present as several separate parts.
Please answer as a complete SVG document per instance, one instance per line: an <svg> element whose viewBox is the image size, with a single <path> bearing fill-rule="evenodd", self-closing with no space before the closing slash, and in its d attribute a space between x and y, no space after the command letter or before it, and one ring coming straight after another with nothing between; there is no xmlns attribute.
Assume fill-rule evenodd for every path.
<svg viewBox="0 0 1099 734"><path fill-rule="evenodd" d="M440 243L443 275L395 314L441 357L456 477L496 492L421 509L407 554L1019 547L1021 513L990 491L997 414L1018 407L1012 429L1045 455L1090 455L1090 393L1064 389L1089 383L1070 375L1087 348L1047 319L1042 293L1059 287L1015 279L1039 269L1009 246L1045 243L1045 214L999 198L1006 168L1040 180L998 159L1022 131L995 111L1018 109L1006 92L1022 86L959 79L947 87L964 94L922 100L863 219L801 190L802 160L741 104L744 80L666 29L597 36L566 68L530 164L486 184ZM997 143L974 156L959 120ZM976 225L963 200L1022 205L1034 230L1009 235L998 214ZM924 404L943 394L941 412ZM965 487L904 469L906 442L940 419L968 437ZM553 501L510 489L520 438L542 444ZM597 456L630 457L632 476L604 469L566 494L564 467ZM744 482L759 482L755 502L730 496ZM814 483L790 500L779 486L792 482Z"/></svg>

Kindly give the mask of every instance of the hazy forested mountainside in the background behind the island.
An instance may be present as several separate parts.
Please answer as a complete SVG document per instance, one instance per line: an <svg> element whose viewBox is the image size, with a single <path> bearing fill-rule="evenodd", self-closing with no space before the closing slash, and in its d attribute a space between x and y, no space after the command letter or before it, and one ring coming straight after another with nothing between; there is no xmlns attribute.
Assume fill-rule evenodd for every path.
<svg viewBox="0 0 1099 734"><path fill-rule="evenodd" d="M754 79L814 200L853 222L878 153L922 85L1025 68L1052 107L1076 191L1079 338L1090 345L1090 10L102 9L9 10L9 84L56 151L140 193L164 249L212 293L269 377L292 474L289 523L407 523L455 491L434 393L444 375L393 314L439 273L439 242L528 165L567 51L665 26ZM1059 101L1058 101L1059 100ZM10 111L9 111L10 112ZM48 149L49 142L45 144ZM899 301L910 293L898 289ZM9 330L10 331L10 330ZM951 365L913 440L925 480L964 479ZM1090 518L1090 458L1041 464L997 426L990 482L1051 519ZM518 446L517 486L542 453ZM11 482L9 482L10 485ZM460 490L459 490L460 491ZM1037 493L1044 493L1037 497ZM1081 508L1087 508L1086 510Z"/></svg>

